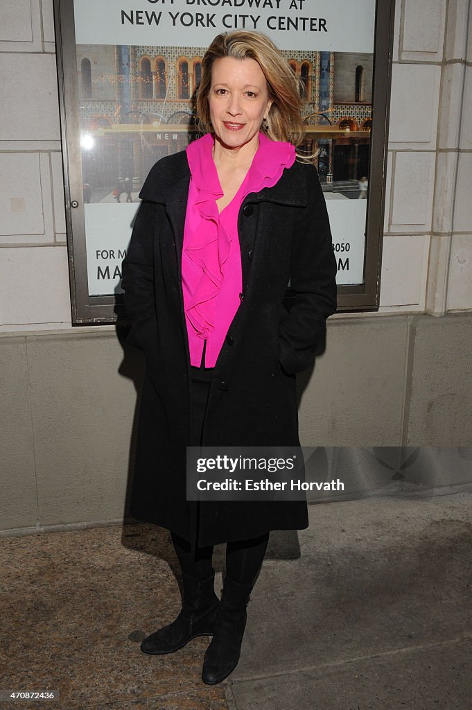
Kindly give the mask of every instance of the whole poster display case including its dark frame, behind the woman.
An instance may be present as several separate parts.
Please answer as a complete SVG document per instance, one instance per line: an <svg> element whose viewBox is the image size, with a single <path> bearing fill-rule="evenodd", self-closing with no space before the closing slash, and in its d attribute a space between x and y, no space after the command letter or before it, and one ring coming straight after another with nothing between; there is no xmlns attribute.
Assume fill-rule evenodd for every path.
<svg viewBox="0 0 472 710"><path fill-rule="evenodd" d="M179 12L185 8L185 21L196 17L187 0L170 4ZM326 198L339 307L373 310L380 283L393 1L363 0L358 25L361 6L339 4L338 13L325 4L329 33L297 31L296 23L276 27L273 10L262 2L259 28L280 46L304 85L301 149L312 156ZM236 8L217 5L216 20L227 15L236 21ZM193 99L214 29L177 26L168 13L152 9L145 13L147 26L141 10L116 12L112 0L55 0L55 12L65 77L60 110L74 322L110 322L121 309L121 262L146 175L156 160L183 151L199 135Z"/></svg>

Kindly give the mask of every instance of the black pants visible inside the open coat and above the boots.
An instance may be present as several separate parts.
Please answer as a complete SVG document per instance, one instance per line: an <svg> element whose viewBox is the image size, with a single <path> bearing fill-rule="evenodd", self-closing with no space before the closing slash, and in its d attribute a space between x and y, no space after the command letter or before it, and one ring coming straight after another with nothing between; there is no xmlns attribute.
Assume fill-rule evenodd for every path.
<svg viewBox="0 0 472 710"><path fill-rule="evenodd" d="M192 367L194 446L199 446L202 442L202 427L212 376L213 368ZM195 525L197 525L198 515L196 517ZM213 571L213 545L197 547L194 542L185 540L180 535L176 535L175 532L171 532L171 537L182 572L196 579L208 579ZM240 584L253 584L263 562L268 540L269 533L265 532L260 537L227 542L226 574Z"/></svg>

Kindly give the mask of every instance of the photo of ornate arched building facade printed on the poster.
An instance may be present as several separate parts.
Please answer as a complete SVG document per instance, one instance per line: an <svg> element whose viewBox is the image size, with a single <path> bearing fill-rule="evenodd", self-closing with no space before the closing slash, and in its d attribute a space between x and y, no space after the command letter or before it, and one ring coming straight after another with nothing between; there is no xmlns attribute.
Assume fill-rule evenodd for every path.
<svg viewBox="0 0 472 710"><path fill-rule="evenodd" d="M92 147L82 146L91 202L116 203L126 178L136 199L156 160L198 136L194 99L203 53L203 47L77 45L81 131L94 139ZM314 155L326 197L358 199L369 173L373 55L283 53L304 85L303 149Z"/></svg>

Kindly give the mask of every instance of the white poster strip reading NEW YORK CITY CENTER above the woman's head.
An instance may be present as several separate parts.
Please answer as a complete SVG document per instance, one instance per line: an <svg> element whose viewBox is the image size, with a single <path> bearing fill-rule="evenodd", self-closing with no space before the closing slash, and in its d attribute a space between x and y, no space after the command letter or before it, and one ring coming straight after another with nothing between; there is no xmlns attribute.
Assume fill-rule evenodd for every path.
<svg viewBox="0 0 472 710"><path fill-rule="evenodd" d="M256 30L280 49L372 53L375 1L79 0L75 39L84 45L208 46L221 32Z"/></svg>

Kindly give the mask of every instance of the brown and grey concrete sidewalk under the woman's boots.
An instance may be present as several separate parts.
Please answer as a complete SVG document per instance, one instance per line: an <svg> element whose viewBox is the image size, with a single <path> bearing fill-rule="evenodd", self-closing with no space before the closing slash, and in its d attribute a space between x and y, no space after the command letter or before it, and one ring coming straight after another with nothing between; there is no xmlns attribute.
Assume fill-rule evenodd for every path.
<svg viewBox="0 0 472 710"><path fill-rule="evenodd" d="M307 530L271 533L241 661L216 687L200 679L206 637L139 650L180 608L165 530L4 538L0 688L59 692L14 705L28 709L470 710L471 494L309 514ZM214 562L219 591L224 546Z"/></svg>

